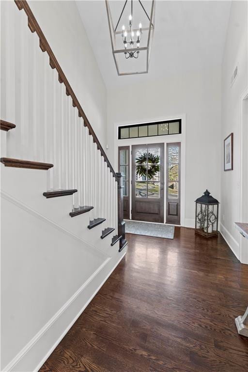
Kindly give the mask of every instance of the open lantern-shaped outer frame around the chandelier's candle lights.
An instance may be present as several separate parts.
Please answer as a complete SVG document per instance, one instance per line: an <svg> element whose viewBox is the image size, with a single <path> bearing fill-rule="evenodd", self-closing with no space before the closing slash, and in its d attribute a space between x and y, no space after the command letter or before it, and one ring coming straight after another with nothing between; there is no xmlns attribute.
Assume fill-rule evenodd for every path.
<svg viewBox="0 0 248 372"><path fill-rule="evenodd" d="M106 9L107 9L107 15L108 15L108 23L109 23L109 33L110 33L110 39L111 39L111 47L112 47L112 54L114 57L114 62L117 70L118 76L125 76L125 75L137 75L137 74L147 74L149 69L149 61L150 61L150 53L151 53L151 31L154 30L154 18L155 18L155 0L152 0L152 6L151 6L151 13L150 17L148 16L147 12L145 11L141 1L139 0L140 5L142 9L144 10L146 16L149 19L149 27L142 28L142 31L148 31L148 38L147 38L147 45L146 47L139 47L137 50L139 51L146 51L146 69L144 71L135 71L135 72L120 72L118 61L116 58L116 55L119 53L133 53L135 51L134 48L126 48L126 49L117 49L116 47L116 35L122 34L122 31L116 31L119 21L121 19L121 16L123 14L125 5L127 3L127 0L125 0L123 10L121 12L121 16L119 17L119 20L117 22L116 27L114 27L113 19L111 16L111 11L109 7L109 0L105 0L106 3ZM139 29L134 29L133 31L138 31Z"/></svg>

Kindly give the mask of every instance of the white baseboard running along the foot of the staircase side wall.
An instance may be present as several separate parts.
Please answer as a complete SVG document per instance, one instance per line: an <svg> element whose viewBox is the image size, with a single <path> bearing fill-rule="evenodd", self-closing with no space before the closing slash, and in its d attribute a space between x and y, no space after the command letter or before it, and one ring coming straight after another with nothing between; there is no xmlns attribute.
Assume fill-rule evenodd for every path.
<svg viewBox="0 0 248 372"><path fill-rule="evenodd" d="M126 249L107 259L2 372L39 371L125 254Z"/></svg>

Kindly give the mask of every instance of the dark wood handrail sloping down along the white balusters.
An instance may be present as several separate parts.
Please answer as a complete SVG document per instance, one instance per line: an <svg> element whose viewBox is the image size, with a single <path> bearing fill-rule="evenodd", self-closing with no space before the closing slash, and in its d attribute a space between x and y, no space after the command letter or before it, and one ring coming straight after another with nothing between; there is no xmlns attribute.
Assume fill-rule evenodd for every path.
<svg viewBox="0 0 248 372"><path fill-rule="evenodd" d="M114 169L113 169L113 167L112 167L112 165L111 165L111 163L108 159L108 156L106 155L104 149L102 148L102 145L99 142L99 140L98 140L98 138L97 138L90 122L89 122L89 120L87 119L87 116L85 115L84 110L82 109L81 105L79 104L78 99L77 99L75 93L73 92L72 87L69 84L69 81L67 80L66 76L64 75L59 62L57 61L55 55L53 54L53 51L52 51L51 47L49 46L49 44L47 42L47 39L46 39L44 33L42 32L35 16L33 15L28 2L26 0L15 0L15 3L16 3L19 10L23 9L25 11L25 13L27 14L27 16L28 16L28 26L29 26L31 32L36 32L37 33L37 35L40 39L41 50L43 52L47 52L47 54L49 56L49 61L50 61L51 68L56 68L56 70L58 72L58 75L59 75L59 77L58 77L59 82L64 83L64 85L65 85L66 95L70 95L72 97L73 107L77 107L78 116L83 118L84 126L88 127L89 134L93 137L93 142L96 143L97 148L98 148L98 150L100 150L101 155L104 157L104 161L106 161L107 166L109 167L110 171L113 174L113 177L115 178L116 182L118 182L118 177L117 177L117 175L116 175L116 173L115 173L115 171L114 171Z"/></svg>

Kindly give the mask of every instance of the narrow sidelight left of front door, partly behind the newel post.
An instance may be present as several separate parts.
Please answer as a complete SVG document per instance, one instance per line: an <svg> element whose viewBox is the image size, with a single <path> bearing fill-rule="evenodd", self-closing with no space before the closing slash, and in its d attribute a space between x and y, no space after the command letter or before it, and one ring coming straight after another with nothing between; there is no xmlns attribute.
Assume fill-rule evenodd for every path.
<svg viewBox="0 0 248 372"><path fill-rule="evenodd" d="M118 160L118 169L119 172L123 174L123 212L124 219L130 219L130 147L129 146L120 146L119 147L119 160Z"/></svg>

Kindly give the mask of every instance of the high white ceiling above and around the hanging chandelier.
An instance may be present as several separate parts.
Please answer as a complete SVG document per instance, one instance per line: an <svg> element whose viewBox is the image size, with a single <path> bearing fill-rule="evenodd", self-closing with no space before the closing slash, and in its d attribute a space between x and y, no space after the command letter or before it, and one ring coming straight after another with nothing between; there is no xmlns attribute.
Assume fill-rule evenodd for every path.
<svg viewBox="0 0 248 372"><path fill-rule="evenodd" d="M142 2L149 8L151 1ZM77 1L77 5L108 88L221 64L231 1L157 0L149 73L136 76L117 76L105 1ZM110 5L118 15L124 0L112 0Z"/></svg>

